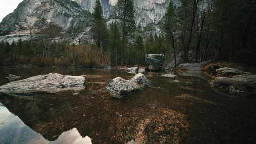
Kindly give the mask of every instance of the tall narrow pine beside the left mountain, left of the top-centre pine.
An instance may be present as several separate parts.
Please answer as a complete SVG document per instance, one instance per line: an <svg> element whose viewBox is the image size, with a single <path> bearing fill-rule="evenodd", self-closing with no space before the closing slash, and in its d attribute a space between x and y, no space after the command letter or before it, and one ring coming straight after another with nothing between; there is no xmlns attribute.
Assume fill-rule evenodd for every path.
<svg viewBox="0 0 256 144"><path fill-rule="evenodd" d="M99 0L95 1L91 31L96 46L100 48L102 45L103 51L105 52L108 46L107 26L106 21L102 16L102 7Z"/></svg>

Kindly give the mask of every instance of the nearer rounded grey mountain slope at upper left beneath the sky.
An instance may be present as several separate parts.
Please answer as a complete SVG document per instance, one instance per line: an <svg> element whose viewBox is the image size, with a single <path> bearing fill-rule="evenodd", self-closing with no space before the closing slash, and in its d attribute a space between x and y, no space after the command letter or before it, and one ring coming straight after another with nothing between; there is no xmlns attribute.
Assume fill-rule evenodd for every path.
<svg viewBox="0 0 256 144"><path fill-rule="evenodd" d="M90 22L91 13L71 0L23 0L0 23L0 40L26 40L30 29L37 32L47 23L58 25L65 33Z"/></svg>

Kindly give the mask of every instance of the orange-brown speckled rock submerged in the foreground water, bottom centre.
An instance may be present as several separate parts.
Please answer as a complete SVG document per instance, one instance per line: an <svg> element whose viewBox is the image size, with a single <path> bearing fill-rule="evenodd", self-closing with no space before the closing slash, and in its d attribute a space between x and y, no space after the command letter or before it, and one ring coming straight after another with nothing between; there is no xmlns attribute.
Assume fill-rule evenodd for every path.
<svg viewBox="0 0 256 144"><path fill-rule="evenodd" d="M112 141L121 144L182 144L189 142L190 123L188 117L181 112L167 108L155 108L155 111L157 114L146 117L117 117L116 132Z"/></svg>

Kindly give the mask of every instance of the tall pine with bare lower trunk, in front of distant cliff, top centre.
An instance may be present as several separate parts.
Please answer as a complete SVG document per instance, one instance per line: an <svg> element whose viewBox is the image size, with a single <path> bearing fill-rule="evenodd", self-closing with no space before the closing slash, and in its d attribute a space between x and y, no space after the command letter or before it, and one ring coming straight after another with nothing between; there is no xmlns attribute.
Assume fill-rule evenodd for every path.
<svg viewBox="0 0 256 144"><path fill-rule="evenodd" d="M135 30L133 0L118 0L115 6L115 17L119 19L122 32L121 64L125 64L125 49L128 44L128 36Z"/></svg>

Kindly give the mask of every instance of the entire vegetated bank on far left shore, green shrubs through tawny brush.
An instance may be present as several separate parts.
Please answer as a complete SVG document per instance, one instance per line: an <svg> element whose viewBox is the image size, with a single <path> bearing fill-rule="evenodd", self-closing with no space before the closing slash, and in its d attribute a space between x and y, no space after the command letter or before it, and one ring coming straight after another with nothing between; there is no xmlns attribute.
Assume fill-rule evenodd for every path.
<svg viewBox="0 0 256 144"><path fill-rule="evenodd" d="M61 43L55 45L51 49L50 56L37 54L29 49L27 49L28 53L13 53L12 51L18 50L18 47L15 44L10 45L12 51L9 53L3 51L5 54L0 55L0 64L2 66L33 65L42 67L95 67L110 64L109 54L103 53L99 48L92 48L91 45L67 46ZM59 46L64 46L64 48Z"/></svg>

